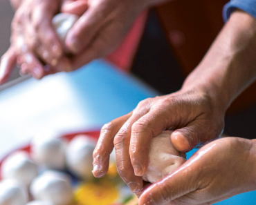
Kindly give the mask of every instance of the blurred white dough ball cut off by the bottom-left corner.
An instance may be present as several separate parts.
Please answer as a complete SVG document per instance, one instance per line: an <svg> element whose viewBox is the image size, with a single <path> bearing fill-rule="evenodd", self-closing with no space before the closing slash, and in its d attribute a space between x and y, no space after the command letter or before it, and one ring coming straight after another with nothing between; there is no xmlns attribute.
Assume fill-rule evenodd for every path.
<svg viewBox="0 0 256 205"><path fill-rule="evenodd" d="M28 202L26 186L15 179L0 182L0 205L25 205Z"/></svg>

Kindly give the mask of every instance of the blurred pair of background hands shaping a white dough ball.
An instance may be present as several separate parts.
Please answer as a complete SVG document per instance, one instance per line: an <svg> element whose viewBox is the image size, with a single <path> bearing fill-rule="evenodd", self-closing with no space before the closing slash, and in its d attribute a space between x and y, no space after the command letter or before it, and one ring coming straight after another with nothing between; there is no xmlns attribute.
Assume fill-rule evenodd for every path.
<svg viewBox="0 0 256 205"><path fill-rule="evenodd" d="M135 0L21 1L12 21L11 46L1 59L0 84L16 64L21 73L41 79L106 56L122 42L146 4ZM64 45L51 23L58 12L80 15Z"/></svg>

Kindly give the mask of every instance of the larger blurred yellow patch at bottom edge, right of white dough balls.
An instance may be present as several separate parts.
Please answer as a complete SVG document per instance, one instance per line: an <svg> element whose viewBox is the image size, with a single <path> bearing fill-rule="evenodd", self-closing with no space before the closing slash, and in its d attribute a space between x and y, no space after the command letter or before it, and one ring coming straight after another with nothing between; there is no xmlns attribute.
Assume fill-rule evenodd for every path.
<svg viewBox="0 0 256 205"><path fill-rule="evenodd" d="M75 192L78 205L109 205L118 199L117 188L109 182L82 184Z"/></svg>

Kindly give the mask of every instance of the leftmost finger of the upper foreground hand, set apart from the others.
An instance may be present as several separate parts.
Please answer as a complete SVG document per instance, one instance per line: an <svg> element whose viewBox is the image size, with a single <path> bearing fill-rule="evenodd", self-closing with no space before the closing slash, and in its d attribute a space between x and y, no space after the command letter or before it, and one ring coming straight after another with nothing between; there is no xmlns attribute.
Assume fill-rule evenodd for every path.
<svg viewBox="0 0 256 205"><path fill-rule="evenodd" d="M93 175L95 177L103 177L109 170L109 155L113 150L113 139L131 114L118 117L102 127L100 138L93 152Z"/></svg>

